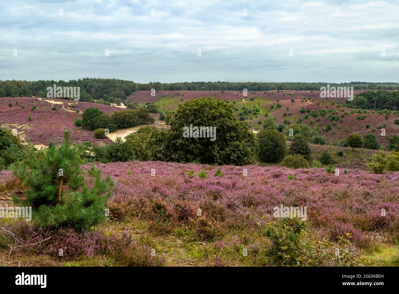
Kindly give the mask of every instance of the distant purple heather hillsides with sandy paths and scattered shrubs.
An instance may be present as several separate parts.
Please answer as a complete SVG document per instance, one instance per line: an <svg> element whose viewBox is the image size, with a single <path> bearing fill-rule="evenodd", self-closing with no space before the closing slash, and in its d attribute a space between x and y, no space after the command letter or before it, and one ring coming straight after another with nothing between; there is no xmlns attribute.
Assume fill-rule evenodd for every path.
<svg viewBox="0 0 399 294"><path fill-rule="evenodd" d="M355 94L363 90L355 90ZM326 136L326 141L337 141L346 139L349 134L358 132L362 136L369 132L377 137L377 142L381 146L388 144L387 136L399 133L399 125L395 124L398 119L398 112L392 111L386 118L385 113L377 113L373 110L356 110L344 107L340 102L328 102L320 99L320 91L267 91L267 92L248 92L247 97L235 91L158 91L156 96L151 96L151 91L134 92L127 98L140 106L146 103L154 103L158 111L162 113L173 112L178 104L193 98L210 96L214 99L223 99L230 103L233 108L234 116L249 124L254 131L263 129L262 121L267 115L276 118L276 124L284 124L286 128L290 124L308 124L311 128L318 128L320 136ZM16 104L18 100L19 104ZM278 102L277 102L278 100ZM294 100L293 102L291 100ZM12 107L8 104L11 103ZM21 106L25 108L21 108ZM57 111L51 110L52 106L58 108ZM35 106L36 109L31 110ZM17 128L20 136L26 140L32 139L36 145L48 145L50 141L58 143L62 128L71 128L73 142L90 141L93 144L108 144L109 138L95 139L93 132L76 127L74 122L81 118L83 110L89 107L97 107L102 112L111 115L120 110L122 106L107 106L91 102L75 102L71 100L35 98L35 97L16 97L0 98L0 124L5 128ZM303 108L303 109L302 109ZM327 112L326 118L322 117L321 111ZM312 116L312 112L317 112L317 116ZM354 113L352 113L354 112ZM359 113L360 112L360 113ZM28 120L28 116L31 120ZM158 128L167 128L163 121L159 120L159 114L151 114L155 119L154 125ZM330 116L336 118L334 121ZM285 120L285 122L284 122ZM298 120L301 120L298 122ZM325 130L330 124L331 130ZM368 124L368 128L366 127ZM381 130L385 128L385 135L381 136ZM126 136L135 132L138 128L121 129L111 133L110 138L115 140L116 136Z"/></svg>

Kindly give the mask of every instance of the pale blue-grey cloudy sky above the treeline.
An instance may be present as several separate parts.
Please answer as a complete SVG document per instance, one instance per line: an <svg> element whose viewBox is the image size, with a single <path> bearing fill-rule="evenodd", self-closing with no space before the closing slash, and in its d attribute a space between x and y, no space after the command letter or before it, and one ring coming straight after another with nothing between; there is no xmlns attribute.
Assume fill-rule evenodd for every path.
<svg viewBox="0 0 399 294"><path fill-rule="evenodd" d="M398 12L397 0L1 1L0 79L399 82Z"/></svg>

